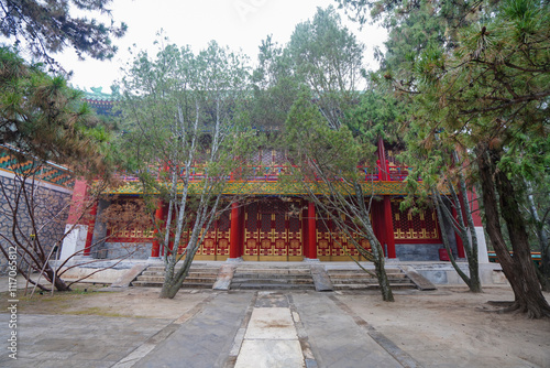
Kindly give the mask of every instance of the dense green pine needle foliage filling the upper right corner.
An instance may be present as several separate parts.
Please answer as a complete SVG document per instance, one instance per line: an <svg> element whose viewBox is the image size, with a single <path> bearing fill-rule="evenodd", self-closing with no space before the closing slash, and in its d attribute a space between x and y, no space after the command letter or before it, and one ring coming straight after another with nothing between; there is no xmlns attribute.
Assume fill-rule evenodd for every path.
<svg viewBox="0 0 550 368"><path fill-rule="evenodd" d="M462 167L453 160L471 162L480 142L506 148L499 167L510 175L544 171L548 3L342 0L340 6L356 15L371 11L389 30L382 68L372 80L394 93L395 120L408 144L403 160L427 183L443 185ZM443 174L444 167L450 169ZM475 180L475 170L468 175Z"/></svg>

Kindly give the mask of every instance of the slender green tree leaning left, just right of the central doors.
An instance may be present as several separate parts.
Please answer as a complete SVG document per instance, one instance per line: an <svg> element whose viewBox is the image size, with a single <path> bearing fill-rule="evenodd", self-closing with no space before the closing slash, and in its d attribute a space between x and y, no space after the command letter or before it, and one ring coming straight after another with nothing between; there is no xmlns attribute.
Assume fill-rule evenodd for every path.
<svg viewBox="0 0 550 368"><path fill-rule="evenodd" d="M360 255L372 261L384 301L394 296L384 268L384 250L370 219L374 193L364 193L365 175L361 162L372 161L374 145L341 126L333 129L305 91L293 106L286 121L286 144L294 165L293 182L300 183L308 198L330 216ZM361 245L369 240L371 249Z"/></svg>

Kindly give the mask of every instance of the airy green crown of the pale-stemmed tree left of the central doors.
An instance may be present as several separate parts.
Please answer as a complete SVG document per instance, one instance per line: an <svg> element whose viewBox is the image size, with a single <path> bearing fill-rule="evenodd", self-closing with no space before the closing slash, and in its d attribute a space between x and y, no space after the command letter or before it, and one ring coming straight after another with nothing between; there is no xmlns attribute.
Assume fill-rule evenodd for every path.
<svg viewBox="0 0 550 368"><path fill-rule="evenodd" d="M243 137L250 121L243 62L215 42L197 55L176 45L167 45L154 59L139 53L123 79L120 144L128 169L145 177L156 162L206 162L210 172L228 163L223 159L235 147L243 148L235 139Z"/></svg>

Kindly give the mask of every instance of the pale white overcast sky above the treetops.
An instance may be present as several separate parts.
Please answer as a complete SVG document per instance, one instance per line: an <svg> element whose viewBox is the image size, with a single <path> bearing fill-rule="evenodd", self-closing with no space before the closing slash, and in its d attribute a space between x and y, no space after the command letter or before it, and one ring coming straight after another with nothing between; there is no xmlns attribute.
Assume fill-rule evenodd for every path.
<svg viewBox="0 0 550 368"><path fill-rule="evenodd" d="M242 50L253 62L262 40L273 34L275 41L286 44L297 23L312 19L317 7L337 6L333 0L114 0L111 4L116 21L128 24L124 37L114 40L119 52L112 61L78 61L72 50L56 59L74 71L70 83L75 87L103 87L109 93L119 79L120 67L129 59L128 48L156 52L155 34L163 29L172 43L190 45L195 52L206 47L210 40L232 50ZM386 32L375 26L359 31L356 24L341 18L358 39L367 45L365 64L376 67L373 46L382 45Z"/></svg>

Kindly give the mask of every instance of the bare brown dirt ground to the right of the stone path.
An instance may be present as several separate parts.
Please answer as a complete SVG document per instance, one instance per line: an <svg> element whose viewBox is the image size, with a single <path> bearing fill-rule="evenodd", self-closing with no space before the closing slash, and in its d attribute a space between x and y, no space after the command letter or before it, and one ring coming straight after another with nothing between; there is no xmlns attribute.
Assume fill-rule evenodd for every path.
<svg viewBox="0 0 550 368"><path fill-rule="evenodd" d="M550 293L544 294L550 300ZM395 303L340 295L359 316L425 366L550 367L550 320L503 314L488 301L513 301L509 288L464 288L396 295ZM449 364L452 361L452 364Z"/></svg>

